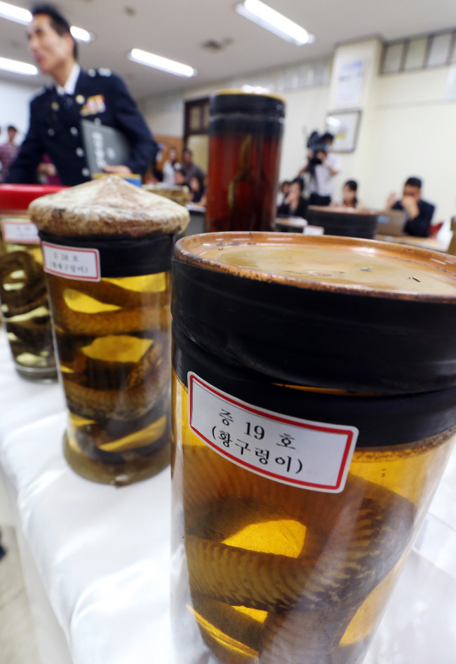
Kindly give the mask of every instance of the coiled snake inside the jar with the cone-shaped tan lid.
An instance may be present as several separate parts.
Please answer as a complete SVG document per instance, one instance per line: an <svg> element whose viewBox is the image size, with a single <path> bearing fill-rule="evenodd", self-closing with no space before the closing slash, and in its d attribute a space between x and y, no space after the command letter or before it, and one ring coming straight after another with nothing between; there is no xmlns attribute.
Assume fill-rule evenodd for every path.
<svg viewBox="0 0 456 664"><path fill-rule="evenodd" d="M170 367L163 357L163 344L154 340L125 380L121 381L121 386L97 389L84 384L87 358L79 352L77 337L81 336L80 345L86 344L90 337L108 335L144 333L156 337L162 330L168 330L168 293L137 292L107 281L94 284L63 281L52 276L48 285L60 352L67 335L70 346L74 345L74 360L71 363L74 375L63 374L69 409L84 419L95 421L132 421L149 412L161 398L170 378ZM98 313L74 311L65 301L68 290L76 290L121 309Z"/></svg>

